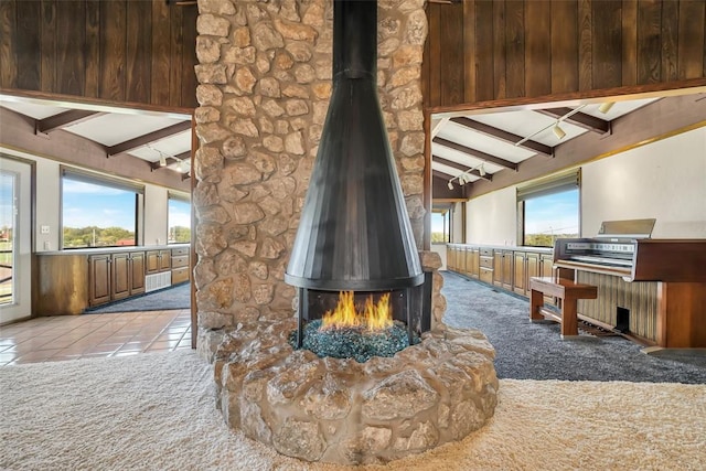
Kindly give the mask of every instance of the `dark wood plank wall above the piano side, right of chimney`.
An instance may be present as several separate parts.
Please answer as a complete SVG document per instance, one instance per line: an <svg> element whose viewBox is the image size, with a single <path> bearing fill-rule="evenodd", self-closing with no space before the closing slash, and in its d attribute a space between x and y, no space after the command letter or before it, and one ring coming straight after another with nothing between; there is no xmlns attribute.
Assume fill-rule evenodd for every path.
<svg viewBox="0 0 706 471"><path fill-rule="evenodd" d="M706 77L704 0L463 0L427 13L427 107Z"/></svg>

